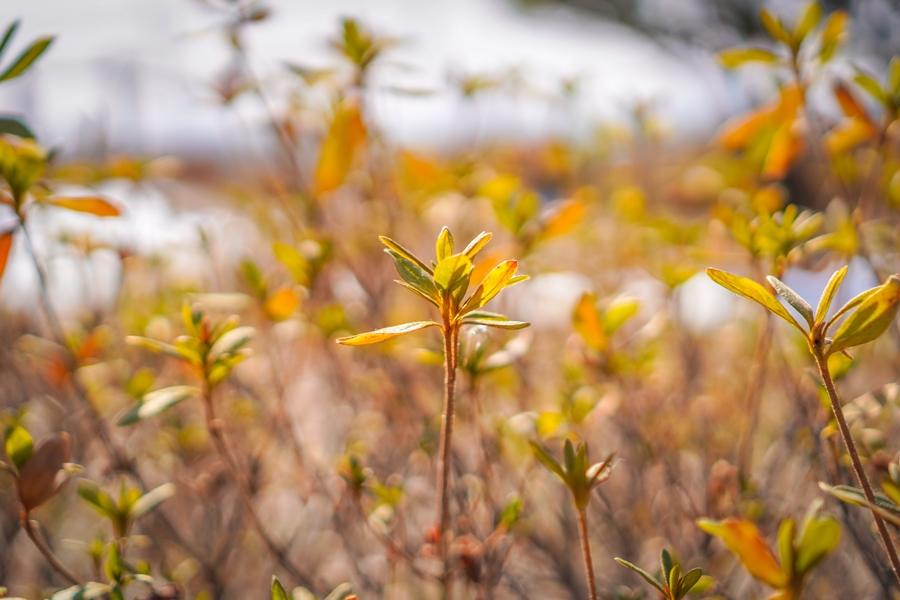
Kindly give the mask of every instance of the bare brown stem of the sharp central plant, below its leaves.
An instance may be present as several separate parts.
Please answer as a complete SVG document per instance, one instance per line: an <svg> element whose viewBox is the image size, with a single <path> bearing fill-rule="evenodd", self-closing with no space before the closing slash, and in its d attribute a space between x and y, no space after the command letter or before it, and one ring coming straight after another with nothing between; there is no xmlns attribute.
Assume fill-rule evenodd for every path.
<svg viewBox="0 0 900 600"><path fill-rule="evenodd" d="M441 414L441 443L438 451L438 513L440 514L439 552L442 564L441 582L444 594L450 592L450 447L453 437L453 409L456 390L456 367L459 360L459 324L444 315L444 411Z"/></svg>

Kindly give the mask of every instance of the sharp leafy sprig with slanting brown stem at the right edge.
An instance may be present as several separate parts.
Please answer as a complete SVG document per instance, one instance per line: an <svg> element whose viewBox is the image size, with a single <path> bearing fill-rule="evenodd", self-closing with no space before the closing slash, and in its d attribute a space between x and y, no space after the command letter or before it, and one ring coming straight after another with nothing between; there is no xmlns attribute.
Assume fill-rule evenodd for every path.
<svg viewBox="0 0 900 600"><path fill-rule="evenodd" d="M785 302L792 306L806 321L808 330L804 329L794 317L788 312L787 308L781 304L775 296L769 293L766 288L753 280L718 269L707 269L710 279L721 285L722 287L739 294L745 298L758 302L768 311L776 316L784 319L803 334L809 347L810 354L816 361L822 382L828 392L831 401L831 408L834 418L837 420L841 437L850 459L853 463L853 470L863 488L866 500L871 506L876 506L875 495L872 492L872 485L869 482L862 461L859 458L859 452L850 435L850 428L847 426L847 420L844 417L841 408L840 399L834 389L834 381L828 370L828 357L835 353L847 354L849 348L867 344L879 336L881 336L897 317L900 310L900 276L891 275L888 280L881 286L866 290L850 300L830 319L827 319L828 309L831 302L837 294L838 287L847 273L847 267L842 268L832 275L822 292L819 305L813 312L812 306L803 298L801 298L794 290L785 285L781 280L775 277L768 277L769 283L775 289L779 296ZM828 330L832 326L837 326L837 331L833 337L828 336ZM900 560L897 557L897 551L894 548L893 541L888 534L884 520L877 510L872 510L875 518L875 524L881 541L884 544L885 552L891 563L894 575L900 583Z"/></svg>

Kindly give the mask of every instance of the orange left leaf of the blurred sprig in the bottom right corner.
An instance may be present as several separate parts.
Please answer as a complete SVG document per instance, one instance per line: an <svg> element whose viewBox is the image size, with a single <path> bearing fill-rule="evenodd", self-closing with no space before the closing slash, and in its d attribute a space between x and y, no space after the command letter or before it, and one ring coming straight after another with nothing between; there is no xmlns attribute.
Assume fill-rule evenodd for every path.
<svg viewBox="0 0 900 600"><path fill-rule="evenodd" d="M753 521L730 518L715 522L700 519L697 525L706 533L722 538L725 546L756 579L776 589L788 585L787 574Z"/></svg>

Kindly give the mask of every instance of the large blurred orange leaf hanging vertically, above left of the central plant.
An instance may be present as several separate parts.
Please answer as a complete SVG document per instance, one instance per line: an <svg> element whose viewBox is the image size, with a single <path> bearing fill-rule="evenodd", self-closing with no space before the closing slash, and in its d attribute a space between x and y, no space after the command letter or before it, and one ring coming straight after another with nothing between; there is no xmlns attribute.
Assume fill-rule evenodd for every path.
<svg viewBox="0 0 900 600"><path fill-rule="evenodd" d="M363 123L359 106L345 100L338 105L328 135L322 143L319 163L316 166L315 191L318 194L330 192L343 183L357 150L366 140L366 125Z"/></svg>

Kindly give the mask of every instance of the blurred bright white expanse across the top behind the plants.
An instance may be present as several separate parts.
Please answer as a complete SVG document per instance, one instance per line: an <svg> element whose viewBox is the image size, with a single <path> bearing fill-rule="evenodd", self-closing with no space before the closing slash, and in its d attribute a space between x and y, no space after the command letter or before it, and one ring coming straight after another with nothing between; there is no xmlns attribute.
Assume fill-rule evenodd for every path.
<svg viewBox="0 0 900 600"><path fill-rule="evenodd" d="M282 61L313 67L338 63L327 45L341 16L401 38L377 74L370 104L393 139L441 146L479 123L483 134L582 135L598 119L622 119L636 101L654 101L678 135L706 136L747 99L735 75L707 52L671 49L628 30L566 9L522 12L505 0L271 0L272 18L248 29L257 74L272 83ZM33 73L5 85L0 107L25 114L45 143L69 151L106 139L114 150L148 154L240 149L260 131L255 98L218 106L208 85L228 62L213 27L220 13L192 0L30 0L8 3L21 18L12 52L39 35L56 42ZM13 10L10 10L13 9ZM7 60L10 58L8 57ZM535 96L461 102L447 73L518 69L547 93L578 77L569 105ZM392 86L434 90L400 96ZM466 112L468 111L468 112Z"/></svg>

